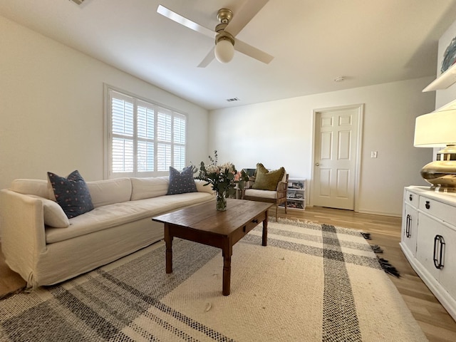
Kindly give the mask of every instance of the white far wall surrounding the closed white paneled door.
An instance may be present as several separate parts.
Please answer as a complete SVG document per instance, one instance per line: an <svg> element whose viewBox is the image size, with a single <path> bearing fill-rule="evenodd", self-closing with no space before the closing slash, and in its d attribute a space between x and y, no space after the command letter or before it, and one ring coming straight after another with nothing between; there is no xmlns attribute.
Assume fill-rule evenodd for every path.
<svg viewBox="0 0 456 342"><path fill-rule="evenodd" d="M290 177L311 186L313 113L316 109L364 103L360 212L400 216L403 187L426 185L420 169L432 149L413 147L415 118L435 106L434 93L421 90L432 78L385 83L302 96L209 113L209 151L238 169L284 166ZM371 151L378 158L371 159Z"/></svg>

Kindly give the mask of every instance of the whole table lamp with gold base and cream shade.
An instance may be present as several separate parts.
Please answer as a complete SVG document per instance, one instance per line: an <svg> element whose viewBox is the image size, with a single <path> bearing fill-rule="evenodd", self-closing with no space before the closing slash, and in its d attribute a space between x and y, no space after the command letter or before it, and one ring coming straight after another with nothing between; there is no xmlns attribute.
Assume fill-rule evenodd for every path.
<svg viewBox="0 0 456 342"><path fill-rule="evenodd" d="M441 192L456 191L456 110L420 115L415 121L415 147L445 147L437 160L421 169L421 176Z"/></svg>

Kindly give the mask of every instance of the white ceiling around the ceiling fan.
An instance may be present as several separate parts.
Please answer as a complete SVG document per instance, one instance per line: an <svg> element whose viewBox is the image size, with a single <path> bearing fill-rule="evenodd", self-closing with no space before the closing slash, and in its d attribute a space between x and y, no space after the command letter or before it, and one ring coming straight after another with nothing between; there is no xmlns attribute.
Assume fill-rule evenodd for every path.
<svg viewBox="0 0 456 342"><path fill-rule="evenodd" d="M0 15L209 110L435 75L456 20L456 0L269 0L237 38L271 63L236 52L197 68L213 39L157 14L214 28L219 9L236 16L245 1L0 0Z"/></svg>

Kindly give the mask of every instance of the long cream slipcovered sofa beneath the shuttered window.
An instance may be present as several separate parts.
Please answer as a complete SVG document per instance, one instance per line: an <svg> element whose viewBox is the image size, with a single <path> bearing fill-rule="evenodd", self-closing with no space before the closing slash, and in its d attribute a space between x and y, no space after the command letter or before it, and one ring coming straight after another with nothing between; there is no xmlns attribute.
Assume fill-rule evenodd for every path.
<svg viewBox="0 0 456 342"><path fill-rule="evenodd" d="M199 180L197 192L178 195L166 195L168 177L86 183L94 209L71 219L51 200L46 180L14 180L0 191L1 249L28 287L56 284L147 247L164 234L152 217L214 200Z"/></svg>

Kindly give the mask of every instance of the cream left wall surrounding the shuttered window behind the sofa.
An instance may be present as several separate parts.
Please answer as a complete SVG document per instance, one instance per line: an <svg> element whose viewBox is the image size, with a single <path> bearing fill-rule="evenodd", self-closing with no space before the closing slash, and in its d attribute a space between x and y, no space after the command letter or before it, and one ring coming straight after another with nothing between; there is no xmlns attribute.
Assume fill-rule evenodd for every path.
<svg viewBox="0 0 456 342"><path fill-rule="evenodd" d="M207 110L2 16L0 47L0 189L47 171L103 179L103 83L187 113L188 161L207 155Z"/></svg>

